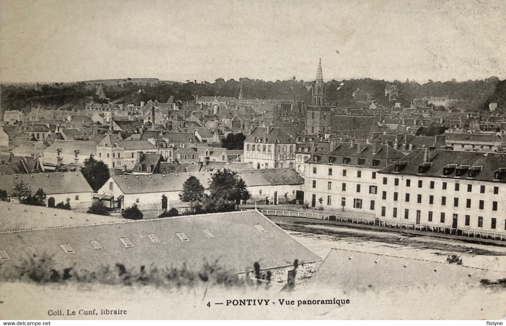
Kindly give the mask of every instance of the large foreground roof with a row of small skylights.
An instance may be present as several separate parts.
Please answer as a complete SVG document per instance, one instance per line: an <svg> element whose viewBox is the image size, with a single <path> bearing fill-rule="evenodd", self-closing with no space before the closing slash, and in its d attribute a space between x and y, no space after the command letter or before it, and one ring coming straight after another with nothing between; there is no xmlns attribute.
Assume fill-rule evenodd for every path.
<svg viewBox="0 0 506 326"><path fill-rule="evenodd" d="M255 225L260 224L265 232ZM202 230L209 230L208 238ZM188 241L176 235L183 232ZM147 235L156 235L153 243ZM126 248L121 238L133 247ZM90 243L98 240L102 250ZM60 245L68 244L74 253L65 253ZM233 245L231 245L233 244ZM26 247L53 257L56 268L73 267L99 270L121 263L127 268L181 267L201 268L205 261L232 272L320 261L321 258L289 236L258 211L190 215L150 220L128 220L87 226L3 232L0 248L11 257L6 264L20 264L27 258Z"/></svg>

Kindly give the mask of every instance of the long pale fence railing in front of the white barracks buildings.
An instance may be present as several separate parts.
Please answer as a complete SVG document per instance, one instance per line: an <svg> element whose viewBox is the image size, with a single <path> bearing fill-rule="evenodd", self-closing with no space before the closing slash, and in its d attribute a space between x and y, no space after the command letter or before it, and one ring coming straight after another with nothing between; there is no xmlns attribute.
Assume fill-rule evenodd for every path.
<svg viewBox="0 0 506 326"><path fill-rule="evenodd" d="M296 211L283 211L283 210L271 210L271 209L259 209L258 211L260 211L262 214L268 215L268 216L305 217L305 218L330 220L330 221L345 222L345 223L367 224L367 225L376 225L376 226L383 226L383 227L393 227L393 228L404 228L404 229L428 231L428 232L442 233L442 234L447 234L447 235L467 236L467 237L471 237L471 238L506 240L506 234L502 234L502 233L477 231L477 230L465 230L465 229L453 228L453 227L447 227L447 226L417 224L417 223L409 223L409 222L401 222L401 221L397 222L397 221L381 220L381 219L377 219L377 218L368 218L368 217L345 217L345 216L327 215L327 214L312 213L312 212L296 212Z"/></svg>

